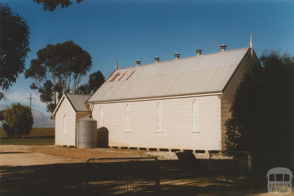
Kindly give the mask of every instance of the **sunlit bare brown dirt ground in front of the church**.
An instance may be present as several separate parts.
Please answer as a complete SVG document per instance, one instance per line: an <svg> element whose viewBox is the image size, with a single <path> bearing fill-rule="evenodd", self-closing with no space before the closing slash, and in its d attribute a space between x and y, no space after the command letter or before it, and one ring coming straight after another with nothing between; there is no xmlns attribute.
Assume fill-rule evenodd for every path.
<svg viewBox="0 0 294 196"><path fill-rule="evenodd" d="M54 163L86 162L90 158L111 157L158 157L158 160L177 160L174 152L156 152L144 150L93 148L75 149L72 147L55 146L22 146L1 145L0 166L26 166ZM206 158L208 155L196 154L196 158Z"/></svg>

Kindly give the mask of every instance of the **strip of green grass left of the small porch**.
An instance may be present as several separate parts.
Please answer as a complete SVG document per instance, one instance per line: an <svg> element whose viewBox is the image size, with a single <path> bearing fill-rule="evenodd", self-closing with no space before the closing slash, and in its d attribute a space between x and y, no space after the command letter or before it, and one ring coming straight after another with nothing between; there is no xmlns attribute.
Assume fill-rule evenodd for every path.
<svg viewBox="0 0 294 196"><path fill-rule="evenodd" d="M55 138L0 138L0 145L54 145Z"/></svg>

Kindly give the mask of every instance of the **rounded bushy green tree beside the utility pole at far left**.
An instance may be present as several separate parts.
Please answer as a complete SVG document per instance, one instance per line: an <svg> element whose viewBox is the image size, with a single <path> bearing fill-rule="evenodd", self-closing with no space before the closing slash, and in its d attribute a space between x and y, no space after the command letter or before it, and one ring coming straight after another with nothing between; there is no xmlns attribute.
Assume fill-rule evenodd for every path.
<svg viewBox="0 0 294 196"><path fill-rule="evenodd" d="M29 134L34 124L31 109L20 103L13 103L3 111L3 128L7 137Z"/></svg>

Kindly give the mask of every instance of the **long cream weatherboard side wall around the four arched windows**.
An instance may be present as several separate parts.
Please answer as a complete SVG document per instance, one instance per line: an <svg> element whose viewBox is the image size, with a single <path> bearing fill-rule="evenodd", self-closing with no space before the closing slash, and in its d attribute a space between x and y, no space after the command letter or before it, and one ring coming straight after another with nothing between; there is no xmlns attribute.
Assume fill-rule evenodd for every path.
<svg viewBox="0 0 294 196"><path fill-rule="evenodd" d="M199 131L192 132L192 103L199 102ZM162 105L162 132L156 132L156 105ZM125 132L125 109L131 107L131 132ZM109 146L218 150L221 140L221 99L217 95L175 99L97 103L92 112L109 132ZM98 125L99 126L99 125Z"/></svg>

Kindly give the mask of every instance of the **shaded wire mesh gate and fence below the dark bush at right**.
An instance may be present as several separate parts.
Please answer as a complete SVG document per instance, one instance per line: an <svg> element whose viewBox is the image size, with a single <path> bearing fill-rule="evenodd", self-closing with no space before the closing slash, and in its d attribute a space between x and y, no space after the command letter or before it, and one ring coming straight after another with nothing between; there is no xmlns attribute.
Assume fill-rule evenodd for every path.
<svg viewBox="0 0 294 196"><path fill-rule="evenodd" d="M242 151L210 151L210 178L245 184L266 183L268 170L291 168L293 152L249 153Z"/></svg>

